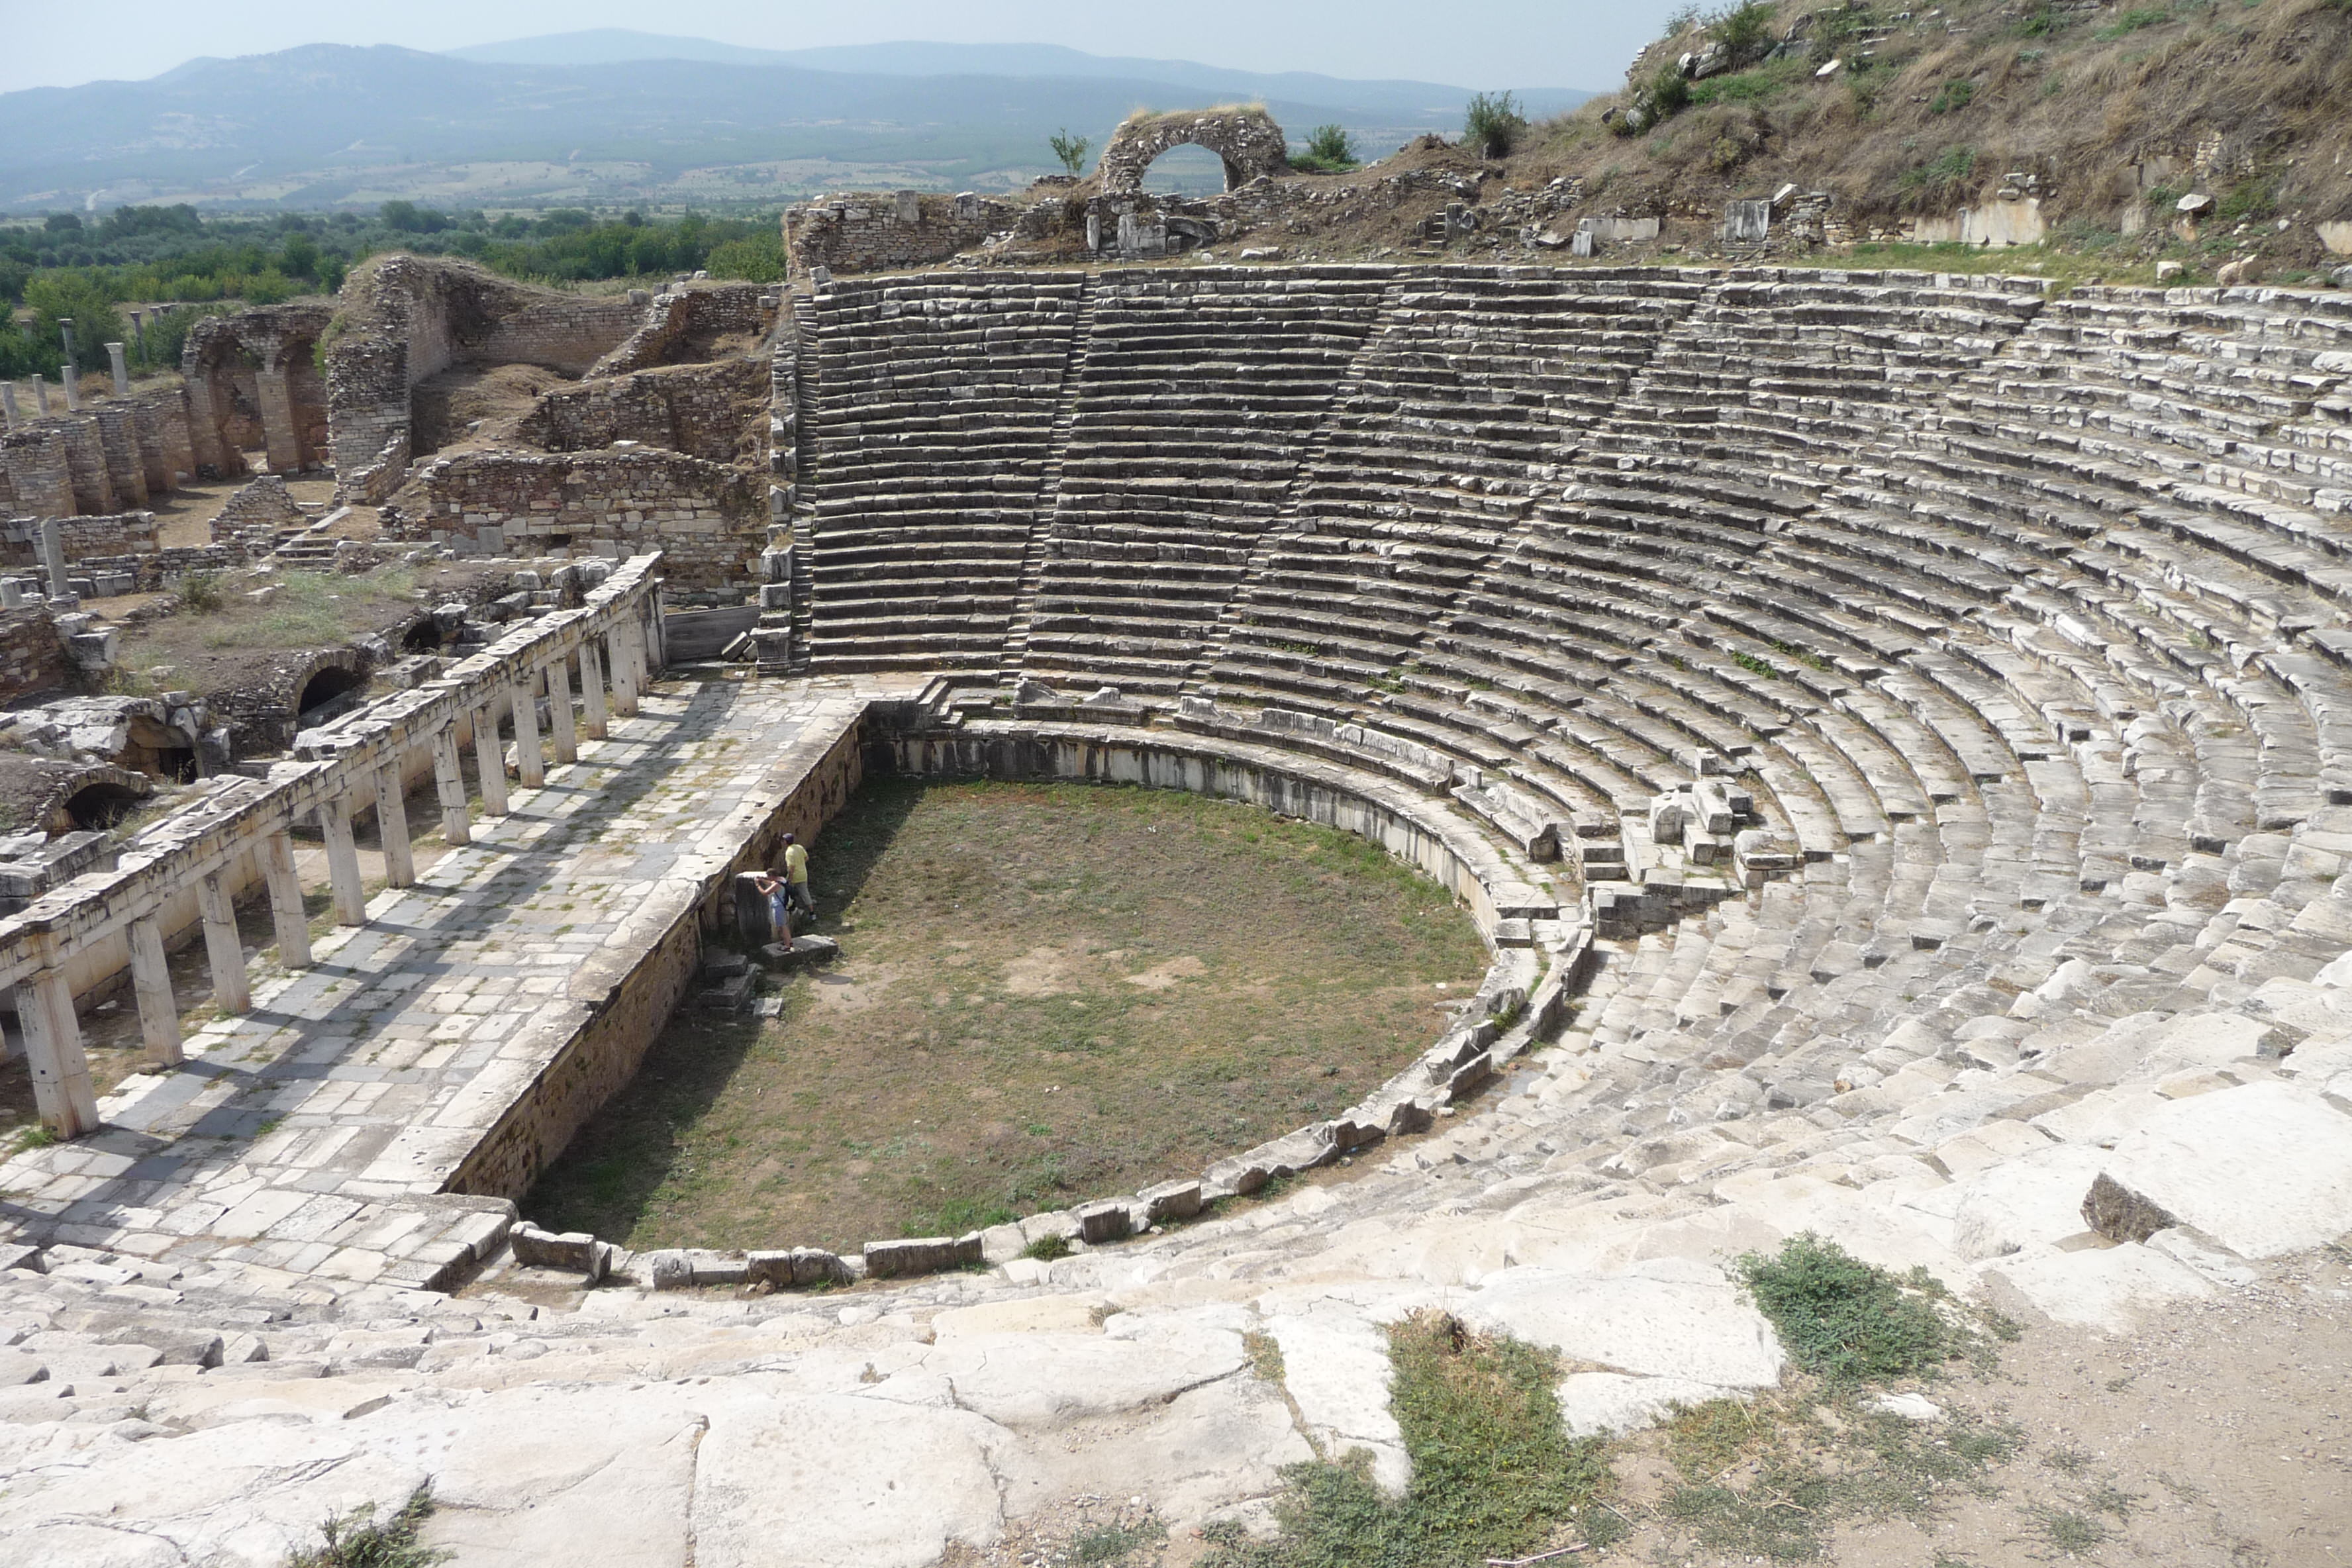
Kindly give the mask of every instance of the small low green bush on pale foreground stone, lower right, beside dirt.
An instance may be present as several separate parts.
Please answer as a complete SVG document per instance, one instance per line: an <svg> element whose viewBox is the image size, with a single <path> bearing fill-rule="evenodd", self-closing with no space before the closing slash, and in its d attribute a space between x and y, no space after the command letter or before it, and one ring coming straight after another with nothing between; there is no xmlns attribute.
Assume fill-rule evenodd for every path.
<svg viewBox="0 0 2352 1568"><path fill-rule="evenodd" d="M1738 1274L1797 1366L1832 1385L1933 1375L1983 1338L1926 1269L1898 1279L1811 1232Z"/></svg>

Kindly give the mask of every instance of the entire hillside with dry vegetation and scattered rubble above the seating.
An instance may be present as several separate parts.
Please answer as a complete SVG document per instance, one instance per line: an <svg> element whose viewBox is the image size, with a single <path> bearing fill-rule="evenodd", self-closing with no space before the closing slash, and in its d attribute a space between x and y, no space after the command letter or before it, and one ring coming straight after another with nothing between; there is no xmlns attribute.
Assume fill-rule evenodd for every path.
<svg viewBox="0 0 2352 1568"><path fill-rule="evenodd" d="M2347 103L2352 0L1752 0L1679 14L1621 92L1557 120L1505 103L1451 141L1291 174L1242 242L1566 261L1592 219L1606 261L2328 282L2352 261ZM1740 200L1771 202L1762 252L1724 244Z"/></svg>

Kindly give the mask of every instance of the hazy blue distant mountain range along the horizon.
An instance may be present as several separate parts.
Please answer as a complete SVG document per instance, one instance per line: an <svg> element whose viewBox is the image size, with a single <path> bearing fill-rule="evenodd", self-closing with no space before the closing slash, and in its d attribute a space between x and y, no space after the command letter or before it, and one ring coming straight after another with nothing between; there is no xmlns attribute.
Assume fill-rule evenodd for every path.
<svg viewBox="0 0 2352 1568"><path fill-rule="evenodd" d="M1550 115L1585 96L1519 89ZM1221 71L1056 45L746 49L604 28L452 54L306 45L146 82L0 94L0 212L198 202L776 207L840 188L1004 190L1044 139L1138 106L1256 99L1367 155L1461 132L1470 89Z"/></svg>

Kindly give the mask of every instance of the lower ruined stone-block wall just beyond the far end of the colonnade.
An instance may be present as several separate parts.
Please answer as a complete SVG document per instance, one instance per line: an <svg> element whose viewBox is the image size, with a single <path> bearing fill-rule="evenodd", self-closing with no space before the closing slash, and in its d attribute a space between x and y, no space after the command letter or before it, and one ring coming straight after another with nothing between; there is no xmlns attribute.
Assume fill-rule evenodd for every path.
<svg viewBox="0 0 2352 1568"><path fill-rule="evenodd" d="M677 588L757 576L767 475L652 447L534 456L466 451L419 468L402 538L482 555L663 552Z"/></svg>

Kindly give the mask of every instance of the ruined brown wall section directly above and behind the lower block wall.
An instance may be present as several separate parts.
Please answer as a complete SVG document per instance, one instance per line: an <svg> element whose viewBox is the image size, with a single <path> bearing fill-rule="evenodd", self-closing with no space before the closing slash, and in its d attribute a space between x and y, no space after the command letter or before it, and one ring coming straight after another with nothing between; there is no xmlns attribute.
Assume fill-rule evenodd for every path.
<svg viewBox="0 0 2352 1568"><path fill-rule="evenodd" d="M583 381L543 395L517 435L546 451L642 442L713 463L757 463L769 378L760 360L724 360Z"/></svg>

